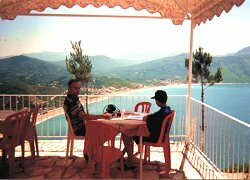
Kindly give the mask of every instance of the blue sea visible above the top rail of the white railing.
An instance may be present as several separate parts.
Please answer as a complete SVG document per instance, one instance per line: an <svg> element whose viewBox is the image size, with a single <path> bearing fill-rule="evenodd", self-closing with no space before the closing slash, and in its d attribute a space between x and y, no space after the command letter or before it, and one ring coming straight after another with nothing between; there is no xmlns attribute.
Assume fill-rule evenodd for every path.
<svg viewBox="0 0 250 180"><path fill-rule="evenodd" d="M127 95L154 95L157 89L162 89L168 95L187 95L188 85L177 84L142 89ZM191 97L201 101L201 85L192 85ZM205 89L204 103L250 124L250 84L214 84Z"/></svg>

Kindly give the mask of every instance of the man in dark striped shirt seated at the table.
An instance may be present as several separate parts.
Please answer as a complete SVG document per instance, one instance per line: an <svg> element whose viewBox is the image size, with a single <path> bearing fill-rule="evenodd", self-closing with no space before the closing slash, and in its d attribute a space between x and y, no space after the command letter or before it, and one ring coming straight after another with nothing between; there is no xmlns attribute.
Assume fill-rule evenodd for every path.
<svg viewBox="0 0 250 180"><path fill-rule="evenodd" d="M81 83L79 80L71 79L68 82L68 94L64 100L64 105L66 107L66 111L69 114L70 121L72 124L72 128L74 130L75 135L77 136L85 136L86 134L86 126L85 121L87 120L95 120L95 119L111 119L111 114L105 113L102 115L94 115L87 114L84 111L83 105L79 100ZM84 155L85 159L87 156Z"/></svg>

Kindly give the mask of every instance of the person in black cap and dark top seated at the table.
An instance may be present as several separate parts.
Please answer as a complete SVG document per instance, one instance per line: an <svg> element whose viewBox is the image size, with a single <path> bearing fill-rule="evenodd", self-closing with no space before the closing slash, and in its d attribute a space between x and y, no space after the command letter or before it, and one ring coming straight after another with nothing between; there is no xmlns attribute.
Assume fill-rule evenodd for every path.
<svg viewBox="0 0 250 180"><path fill-rule="evenodd" d="M150 136L143 137L143 141L152 143L156 143L158 141L160 137L162 122L164 118L172 112L171 108L166 105L167 98L167 93L163 90L157 90L155 92L155 96L151 98L155 99L155 103L160 107L160 110L143 118L143 120L146 121L148 131L150 132ZM126 164L124 164L124 169L133 170L135 168L132 152L133 140L136 142L136 144L139 144L139 136L130 137L122 134L122 139L125 146L125 152L127 152L128 154L128 159Z"/></svg>

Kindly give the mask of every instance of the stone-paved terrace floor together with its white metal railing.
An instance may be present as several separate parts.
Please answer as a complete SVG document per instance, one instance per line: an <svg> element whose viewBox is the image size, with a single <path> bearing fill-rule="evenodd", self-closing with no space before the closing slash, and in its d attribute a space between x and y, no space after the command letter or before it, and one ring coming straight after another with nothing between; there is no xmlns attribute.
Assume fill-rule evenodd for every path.
<svg viewBox="0 0 250 180"><path fill-rule="evenodd" d="M16 167L16 178L85 178L86 162L83 158L83 141L74 146L74 156L65 157L67 124L64 119L62 95L0 95L2 109L20 110L43 102L37 119L40 157L34 163L25 153L25 171ZM85 104L86 96L80 96ZM102 113L106 104L116 104L120 109L133 110L139 101L151 101L149 96L105 95L89 96L89 112ZM7 105L7 106L6 106ZM168 105L176 110L171 127L171 159L173 179L244 179L249 178L250 125L231 117L207 104L191 98L190 117L187 117L187 96L170 96ZM201 108L205 110L205 130L201 130ZM152 106L151 112L157 107ZM228 133L231 132L231 133ZM117 143L119 141L117 140ZM26 144L26 151L29 145ZM150 164L143 166L143 177L158 179L163 169L161 148L151 148ZM20 148L16 149L20 156ZM248 173L242 173L247 172ZM234 173L232 173L234 172ZM112 178L120 178L119 170L112 169ZM128 171L126 178L138 178L139 171ZM93 175L95 178L95 175Z"/></svg>

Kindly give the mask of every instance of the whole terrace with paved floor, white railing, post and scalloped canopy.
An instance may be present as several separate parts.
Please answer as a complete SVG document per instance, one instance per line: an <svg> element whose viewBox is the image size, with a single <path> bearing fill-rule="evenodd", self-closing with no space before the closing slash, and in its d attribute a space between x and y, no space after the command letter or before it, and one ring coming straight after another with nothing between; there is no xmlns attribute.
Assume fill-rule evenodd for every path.
<svg viewBox="0 0 250 180"><path fill-rule="evenodd" d="M177 169L173 178L199 179L199 178L248 178L249 179L249 129L250 125L234 117L231 117L211 106L191 98L192 79L192 49L193 30L195 26L220 16L225 10L229 12L234 6L240 6L244 0L230 1L0 1L1 19L15 19L16 16L56 16L49 13L34 13L32 10L43 11L47 7L56 9L61 5L68 8L79 5L85 7L89 4L95 7L107 5L113 8L119 5L121 8L134 7L136 10L145 9L148 12L158 12L160 16L134 18L168 18L173 24L182 24L184 20L190 20L190 53L189 53L189 91L188 96L171 96L170 106L176 110L176 116L171 128L171 156L172 168ZM74 17L104 17L104 15L84 14L58 14L57 16ZM105 17L131 18L132 16L105 15ZM64 157L66 141L66 122L63 119L61 105L63 96L35 96L35 95L0 95L0 108L20 110L23 107L31 107L32 104L43 102L38 117L37 130L39 134L39 147L41 156L34 164L29 164L26 158L25 173L20 171L16 178L84 178L84 160L82 158L82 143L75 146L75 157L68 161ZM85 97L82 98L83 101ZM137 101L148 100L149 97L139 96L91 96L89 99L89 111L101 113L102 108L108 103L117 104L120 109L132 110ZM7 106L6 106L7 105ZM205 110L205 129L201 130L201 108ZM152 112L154 111L152 108ZM59 118L56 116L59 115ZM47 121L52 118L50 121ZM46 140L43 140L46 139ZM60 139L60 140L56 140ZM28 147L26 148L28 149ZM144 166L144 177L157 179L157 172L163 162L161 150L153 150L153 159L156 171ZM158 154L160 152L161 154ZM17 149L17 154L20 150ZM60 156L61 155L61 156ZM59 157L60 156L60 157ZM72 162L74 164L72 164ZM245 165L248 164L248 166ZM45 167L45 168L44 168ZM155 168L156 167L156 168ZM2 170L3 168L1 168ZM18 167L17 167L18 169ZM248 169L247 174L242 174ZM151 171L152 170L152 171ZM68 172L68 173L66 173ZM231 173L233 172L233 173ZM70 174L70 175L69 175ZM155 176L149 176L155 175ZM74 176L75 175L75 176ZM113 176L120 178L119 176ZM128 178L136 178L138 174L126 175ZM94 177L93 177L94 178Z"/></svg>

